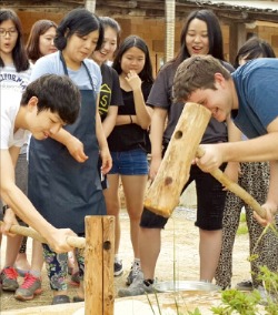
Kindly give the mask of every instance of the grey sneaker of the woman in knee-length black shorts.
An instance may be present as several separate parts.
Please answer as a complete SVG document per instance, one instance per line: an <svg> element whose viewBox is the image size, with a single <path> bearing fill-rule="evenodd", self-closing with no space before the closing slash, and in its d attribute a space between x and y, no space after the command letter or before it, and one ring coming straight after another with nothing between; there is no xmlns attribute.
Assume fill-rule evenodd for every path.
<svg viewBox="0 0 278 315"><path fill-rule="evenodd" d="M147 285L146 282L143 281L142 272L139 271L136 278L130 284L129 287L120 288L118 291L118 296L119 297L136 296L136 295L146 294L146 293L153 293L153 292L155 292L153 285L152 284Z"/></svg>

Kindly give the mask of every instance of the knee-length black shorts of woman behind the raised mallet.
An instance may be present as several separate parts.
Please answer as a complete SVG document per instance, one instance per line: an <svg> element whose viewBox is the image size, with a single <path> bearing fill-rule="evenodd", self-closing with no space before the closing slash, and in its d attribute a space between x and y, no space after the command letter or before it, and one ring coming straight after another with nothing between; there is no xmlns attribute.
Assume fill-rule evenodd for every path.
<svg viewBox="0 0 278 315"><path fill-rule="evenodd" d="M220 169L224 170L226 164ZM190 176L182 192L195 181L197 193L197 221L195 225L207 231L222 228L222 216L227 192L209 173L202 172L197 165L190 169ZM140 226L147 228L163 228L168 219L143 209Z"/></svg>

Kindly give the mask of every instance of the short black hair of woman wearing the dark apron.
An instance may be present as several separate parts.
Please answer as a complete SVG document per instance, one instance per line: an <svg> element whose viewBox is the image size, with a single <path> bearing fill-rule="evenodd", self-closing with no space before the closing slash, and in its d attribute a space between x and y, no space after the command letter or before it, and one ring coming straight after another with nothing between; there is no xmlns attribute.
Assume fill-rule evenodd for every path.
<svg viewBox="0 0 278 315"><path fill-rule="evenodd" d="M99 31L99 39L96 50L99 50L103 41L103 27L100 19L87 9L75 9L58 26L54 45L57 49L63 50L67 47L67 39L72 34L85 37L97 30Z"/></svg>

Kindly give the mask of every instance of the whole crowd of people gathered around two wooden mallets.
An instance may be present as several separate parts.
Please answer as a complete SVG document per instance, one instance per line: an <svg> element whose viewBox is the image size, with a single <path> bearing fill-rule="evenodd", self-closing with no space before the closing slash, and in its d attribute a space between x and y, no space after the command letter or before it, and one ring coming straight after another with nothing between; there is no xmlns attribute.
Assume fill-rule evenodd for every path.
<svg viewBox="0 0 278 315"><path fill-rule="evenodd" d="M212 113L201 141L206 154L197 159L183 187L196 182L200 281L215 278L222 288L230 287L232 245L242 206L250 253L258 254L251 262L252 281L247 285L261 285L261 265L277 272L277 236L268 232L258 243L264 227L254 219L252 210L208 173L220 166L265 203L267 219L256 217L261 224L275 220L278 61L266 41L248 40L238 52L235 68L240 67L235 70L225 61L217 17L210 10L193 11L181 30L177 55L153 79L146 42L138 35L120 42L116 20L99 18L86 9L72 10L58 26L38 21L27 47L18 16L1 9L0 37L3 232L17 222L16 214L48 241L42 246L33 242L29 265L26 241L7 236L2 289L14 291L21 301L40 294L44 261L52 304L69 303L71 252L71 280L79 286L73 302L83 301L83 253L71 248L67 236L85 236L86 215L115 215L115 276L121 275L121 183L133 262L128 286L118 294L153 292L167 219L145 209L143 196L148 176L153 180L158 173L187 101L200 103ZM247 62L252 59L258 61ZM258 139L248 140L251 138ZM24 281L19 286L20 272Z"/></svg>

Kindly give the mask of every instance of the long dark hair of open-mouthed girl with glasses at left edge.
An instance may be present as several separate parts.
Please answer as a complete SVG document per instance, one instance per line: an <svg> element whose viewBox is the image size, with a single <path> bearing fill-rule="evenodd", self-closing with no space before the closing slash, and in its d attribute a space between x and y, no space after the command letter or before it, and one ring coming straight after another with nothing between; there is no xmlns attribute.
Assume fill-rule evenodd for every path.
<svg viewBox="0 0 278 315"><path fill-rule="evenodd" d="M18 31L17 43L12 50L12 62L17 72L26 71L30 67L23 42L22 24L18 14L11 9L0 9L0 24L11 20ZM0 57L0 67L4 67L4 62Z"/></svg>

